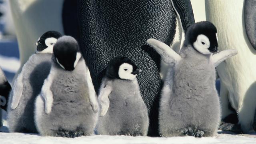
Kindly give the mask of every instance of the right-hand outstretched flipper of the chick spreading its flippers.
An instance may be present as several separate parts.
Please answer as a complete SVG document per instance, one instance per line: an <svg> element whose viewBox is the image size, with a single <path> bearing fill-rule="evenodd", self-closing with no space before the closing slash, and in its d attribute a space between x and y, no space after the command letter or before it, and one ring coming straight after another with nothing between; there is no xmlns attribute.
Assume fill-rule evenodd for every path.
<svg viewBox="0 0 256 144"><path fill-rule="evenodd" d="M227 58L236 55L237 52L238 51L236 49L230 49L230 50L223 50L220 53L214 54L212 56L214 67L218 66L221 62L223 62Z"/></svg>

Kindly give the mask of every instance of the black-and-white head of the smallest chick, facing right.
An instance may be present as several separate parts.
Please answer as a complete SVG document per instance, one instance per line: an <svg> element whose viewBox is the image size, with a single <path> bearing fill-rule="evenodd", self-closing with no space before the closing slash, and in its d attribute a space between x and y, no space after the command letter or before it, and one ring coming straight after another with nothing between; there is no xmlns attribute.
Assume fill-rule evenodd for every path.
<svg viewBox="0 0 256 144"><path fill-rule="evenodd" d="M106 76L111 79L134 80L139 72L141 70L127 57L113 58L106 68Z"/></svg>

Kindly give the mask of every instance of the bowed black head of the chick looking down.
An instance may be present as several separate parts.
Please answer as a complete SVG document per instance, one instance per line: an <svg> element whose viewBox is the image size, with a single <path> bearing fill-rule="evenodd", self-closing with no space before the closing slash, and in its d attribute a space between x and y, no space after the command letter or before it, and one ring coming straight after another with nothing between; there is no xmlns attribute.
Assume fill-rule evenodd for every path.
<svg viewBox="0 0 256 144"><path fill-rule="evenodd" d="M74 70L81 58L78 42L72 36L60 37L53 46L56 62L64 70Z"/></svg>

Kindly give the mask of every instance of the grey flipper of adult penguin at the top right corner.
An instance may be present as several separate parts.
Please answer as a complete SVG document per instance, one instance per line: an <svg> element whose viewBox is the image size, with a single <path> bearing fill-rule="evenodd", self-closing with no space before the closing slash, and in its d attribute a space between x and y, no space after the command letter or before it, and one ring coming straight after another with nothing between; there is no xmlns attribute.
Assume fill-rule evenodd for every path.
<svg viewBox="0 0 256 144"><path fill-rule="evenodd" d="M244 1L244 25L252 47L256 50L256 0Z"/></svg>

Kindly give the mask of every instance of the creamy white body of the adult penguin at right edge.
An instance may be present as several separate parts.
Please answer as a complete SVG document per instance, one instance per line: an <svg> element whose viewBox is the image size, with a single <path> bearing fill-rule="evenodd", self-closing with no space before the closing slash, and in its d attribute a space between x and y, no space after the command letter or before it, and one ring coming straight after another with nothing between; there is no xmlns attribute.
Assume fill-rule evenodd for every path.
<svg viewBox="0 0 256 144"><path fill-rule="evenodd" d="M222 119L234 118L230 116L234 115L228 108L230 102L237 112L242 131L251 132L256 108L255 0L205 2L206 20L218 29L220 51L230 48L238 50L236 56L216 68L221 82ZM249 30L246 26L252 27ZM246 32L250 34L246 35Z"/></svg>

